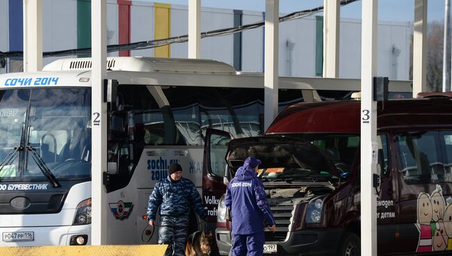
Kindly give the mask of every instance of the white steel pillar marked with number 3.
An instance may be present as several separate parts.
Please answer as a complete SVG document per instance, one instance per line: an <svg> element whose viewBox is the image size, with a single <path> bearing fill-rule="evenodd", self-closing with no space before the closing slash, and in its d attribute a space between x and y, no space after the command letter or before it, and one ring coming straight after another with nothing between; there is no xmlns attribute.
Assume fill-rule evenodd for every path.
<svg viewBox="0 0 452 256"><path fill-rule="evenodd" d="M377 103L372 88L377 74L378 0L362 0L361 29L361 255L377 255L377 195L373 189L378 163Z"/></svg>

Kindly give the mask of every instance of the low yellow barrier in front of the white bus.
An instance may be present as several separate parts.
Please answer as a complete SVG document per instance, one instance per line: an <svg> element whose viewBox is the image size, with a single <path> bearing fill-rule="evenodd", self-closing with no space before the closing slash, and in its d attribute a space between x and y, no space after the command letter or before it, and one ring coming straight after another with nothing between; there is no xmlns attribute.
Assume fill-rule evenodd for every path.
<svg viewBox="0 0 452 256"><path fill-rule="evenodd" d="M162 256L166 245L0 247L1 256Z"/></svg>

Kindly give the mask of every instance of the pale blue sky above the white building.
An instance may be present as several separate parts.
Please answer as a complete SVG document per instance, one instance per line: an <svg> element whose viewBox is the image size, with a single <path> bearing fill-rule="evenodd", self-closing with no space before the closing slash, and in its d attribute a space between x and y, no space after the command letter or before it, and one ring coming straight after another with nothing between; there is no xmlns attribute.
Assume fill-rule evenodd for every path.
<svg viewBox="0 0 452 256"><path fill-rule="evenodd" d="M152 0L154 1L154 0ZM188 5L188 0L155 0L159 3ZM238 10L265 10L265 0L201 0L202 7ZM323 6L323 0L280 0L280 13L293 13L316 6ZM341 17L361 18L361 1L341 8ZM414 0L378 1L378 19L392 22L413 22ZM428 0L428 22L444 21L444 0Z"/></svg>

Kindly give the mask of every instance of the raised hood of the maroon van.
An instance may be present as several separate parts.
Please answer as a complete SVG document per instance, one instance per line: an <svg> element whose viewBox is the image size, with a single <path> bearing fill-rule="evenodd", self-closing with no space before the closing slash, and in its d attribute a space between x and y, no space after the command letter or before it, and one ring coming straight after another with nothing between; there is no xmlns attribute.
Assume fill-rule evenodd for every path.
<svg viewBox="0 0 452 256"><path fill-rule="evenodd" d="M340 177L341 172L318 147L300 138L258 136L229 141L225 160L229 168L243 166L248 157L261 160L260 168L304 168L328 172Z"/></svg>

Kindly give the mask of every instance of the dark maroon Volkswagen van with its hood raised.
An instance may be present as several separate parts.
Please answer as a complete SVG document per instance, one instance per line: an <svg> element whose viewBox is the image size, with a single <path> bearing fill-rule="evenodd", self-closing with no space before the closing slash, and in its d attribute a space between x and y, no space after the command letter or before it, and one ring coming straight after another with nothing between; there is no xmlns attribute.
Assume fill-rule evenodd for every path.
<svg viewBox="0 0 452 256"><path fill-rule="evenodd" d="M380 185L366 188L378 195L378 255L452 253L451 97L378 102ZM359 100L302 102L284 109L264 136L230 141L209 130L204 189L219 201L222 255L234 216L221 196L249 156L262 161L258 177L276 221L266 253L360 254L360 113Z"/></svg>

